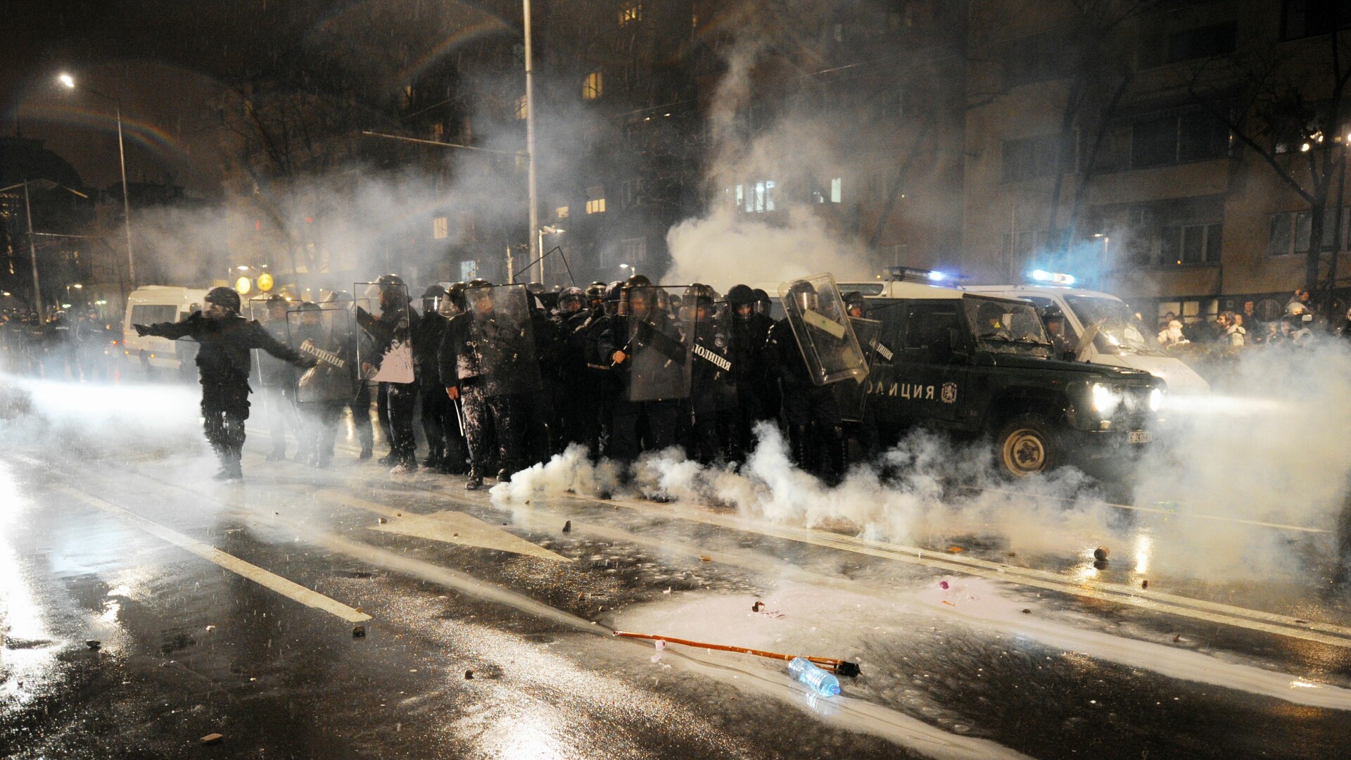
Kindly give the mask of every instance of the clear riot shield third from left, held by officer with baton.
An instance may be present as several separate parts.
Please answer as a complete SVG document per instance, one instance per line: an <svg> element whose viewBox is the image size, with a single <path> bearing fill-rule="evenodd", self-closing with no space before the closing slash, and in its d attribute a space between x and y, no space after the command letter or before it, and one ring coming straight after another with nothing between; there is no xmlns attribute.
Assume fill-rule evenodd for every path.
<svg viewBox="0 0 1351 760"><path fill-rule="evenodd" d="M543 387L535 353L526 285L467 288L467 346L461 361L471 362L489 396L532 394Z"/></svg>

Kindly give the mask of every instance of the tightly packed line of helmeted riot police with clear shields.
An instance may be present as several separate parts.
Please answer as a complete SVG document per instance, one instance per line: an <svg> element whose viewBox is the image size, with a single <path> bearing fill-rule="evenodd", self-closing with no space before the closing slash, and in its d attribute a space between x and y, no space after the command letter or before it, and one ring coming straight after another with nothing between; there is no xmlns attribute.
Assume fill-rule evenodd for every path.
<svg viewBox="0 0 1351 760"><path fill-rule="evenodd" d="M815 298L804 285L812 292L800 295ZM436 284L419 314L403 280L384 275L319 304L250 302L292 352L257 356L269 458L286 456L289 430L297 460L328 467L345 408L359 458L370 458L374 400L389 444L382 464L419 467L416 415L427 444L420 465L467 475L470 490L573 444L624 465L621 481L644 452L671 446L704 464L736 464L765 421L782 423L801 467L843 475L838 394L815 377L815 354L805 358L794 338L801 327L770 318L763 291L736 285L720 298L708 285L661 287L635 275L563 289L546 310L549 298L521 284Z"/></svg>

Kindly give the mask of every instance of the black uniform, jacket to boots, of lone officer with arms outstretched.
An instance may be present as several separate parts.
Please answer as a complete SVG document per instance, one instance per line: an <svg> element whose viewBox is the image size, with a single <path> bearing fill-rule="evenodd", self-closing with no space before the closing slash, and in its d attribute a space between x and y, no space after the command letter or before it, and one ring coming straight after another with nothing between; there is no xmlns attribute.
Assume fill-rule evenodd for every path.
<svg viewBox="0 0 1351 760"><path fill-rule="evenodd" d="M208 319L195 311L181 322L149 325L145 334L169 339L193 338L200 343L197 373L207 442L220 458L222 475L240 477L239 458L245 446L245 421L249 419L249 352L261 349L300 366L309 366L313 360L278 342L262 325L238 314Z"/></svg>

